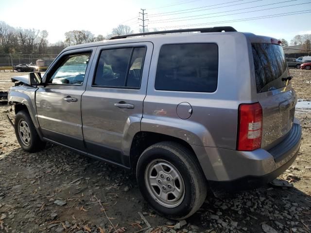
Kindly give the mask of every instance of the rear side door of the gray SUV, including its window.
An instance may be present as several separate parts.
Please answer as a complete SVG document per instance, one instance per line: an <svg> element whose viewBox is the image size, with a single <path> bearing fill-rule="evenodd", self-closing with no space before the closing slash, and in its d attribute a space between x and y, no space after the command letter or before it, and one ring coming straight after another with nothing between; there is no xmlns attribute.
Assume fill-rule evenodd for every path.
<svg viewBox="0 0 311 233"><path fill-rule="evenodd" d="M129 151L140 131L143 100L153 44L99 47L82 95L83 134L87 151L129 167ZM95 60L94 60L95 61Z"/></svg>

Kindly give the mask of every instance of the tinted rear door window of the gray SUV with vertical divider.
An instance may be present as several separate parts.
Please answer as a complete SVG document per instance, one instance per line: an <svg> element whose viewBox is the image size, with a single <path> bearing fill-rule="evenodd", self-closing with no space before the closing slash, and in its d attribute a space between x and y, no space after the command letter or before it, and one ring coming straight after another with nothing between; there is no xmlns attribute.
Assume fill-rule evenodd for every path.
<svg viewBox="0 0 311 233"><path fill-rule="evenodd" d="M140 87L146 48L103 50L93 85L106 87Z"/></svg>

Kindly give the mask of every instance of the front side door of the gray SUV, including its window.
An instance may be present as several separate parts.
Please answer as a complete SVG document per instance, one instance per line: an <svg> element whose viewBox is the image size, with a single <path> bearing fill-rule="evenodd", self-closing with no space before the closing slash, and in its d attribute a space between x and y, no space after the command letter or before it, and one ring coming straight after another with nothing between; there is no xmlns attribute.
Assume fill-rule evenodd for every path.
<svg viewBox="0 0 311 233"><path fill-rule="evenodd" d="M86 89L92 54L96 48L64 52L43 77L36 91L37 118L43 136L85 151L81 96Z"/></svg>

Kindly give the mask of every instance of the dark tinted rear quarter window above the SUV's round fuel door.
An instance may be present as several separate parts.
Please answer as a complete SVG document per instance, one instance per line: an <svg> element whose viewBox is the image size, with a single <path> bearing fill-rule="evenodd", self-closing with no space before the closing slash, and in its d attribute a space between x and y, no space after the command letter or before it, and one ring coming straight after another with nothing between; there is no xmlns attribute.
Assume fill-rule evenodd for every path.
<svg viewBox="0 0 311 233"><path fill-rule="evenodd" d="M214 92L218 79L216 44L170 44L160 50L155 89Z"/></svg>

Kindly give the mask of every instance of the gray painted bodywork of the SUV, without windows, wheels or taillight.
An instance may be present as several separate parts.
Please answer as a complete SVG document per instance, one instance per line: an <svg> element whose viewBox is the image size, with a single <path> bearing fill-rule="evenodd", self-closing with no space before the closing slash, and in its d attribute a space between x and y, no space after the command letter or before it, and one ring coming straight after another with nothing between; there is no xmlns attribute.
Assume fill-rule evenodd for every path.
<svg viewBox="0 0 311 233"><path fill-rule="evenodd" d="M215 92L155 90L159 50L163 44L172 43L218 45L219 72ZM26 104L37 130L44 132L46 140L108 162L119 161L123 167L129 164L134 135L144 131L170 135L189 143L208 180L228 181L246 175L261 176L281 165L274 161L268 150L277 146L289 132L293 122L286 121L285 118L296 103L296 96L291 85L285 89L257 94L251 43L271 43L271 38L238 32L193 33L142 36L71 46L54 60L45 73L43 82L62 56L91 49L93 52L83 85L40 86L36 100L37 88L18 86L11 89L9 101ZM92 87L100 51L129 46L147 47L141 88L131 90ZM78 101L62 101L67 95ZM53 111L45 109L41 100L51 101L55 105ZM120 101L133 104L134 108L114 105ZM236 151L238 107L241 103L258 101L263 107L263 131L274 130L274 133L262 139L261 149ZM185 102L189 105L185 105ZM189 106L192 109L191 115L186 111ZM298 123L296 119L294 121ZM67 140L57 141L57 137L54 140L51 135L59 135L62 140L67 137L72 145ZM88 148L77 146L83 141ZM91 148L92 153L88 151ZM104 154L104 149L110 151L111 155ZM299 145L296 144L285 157L290 158L298 150Z"/></svg>

